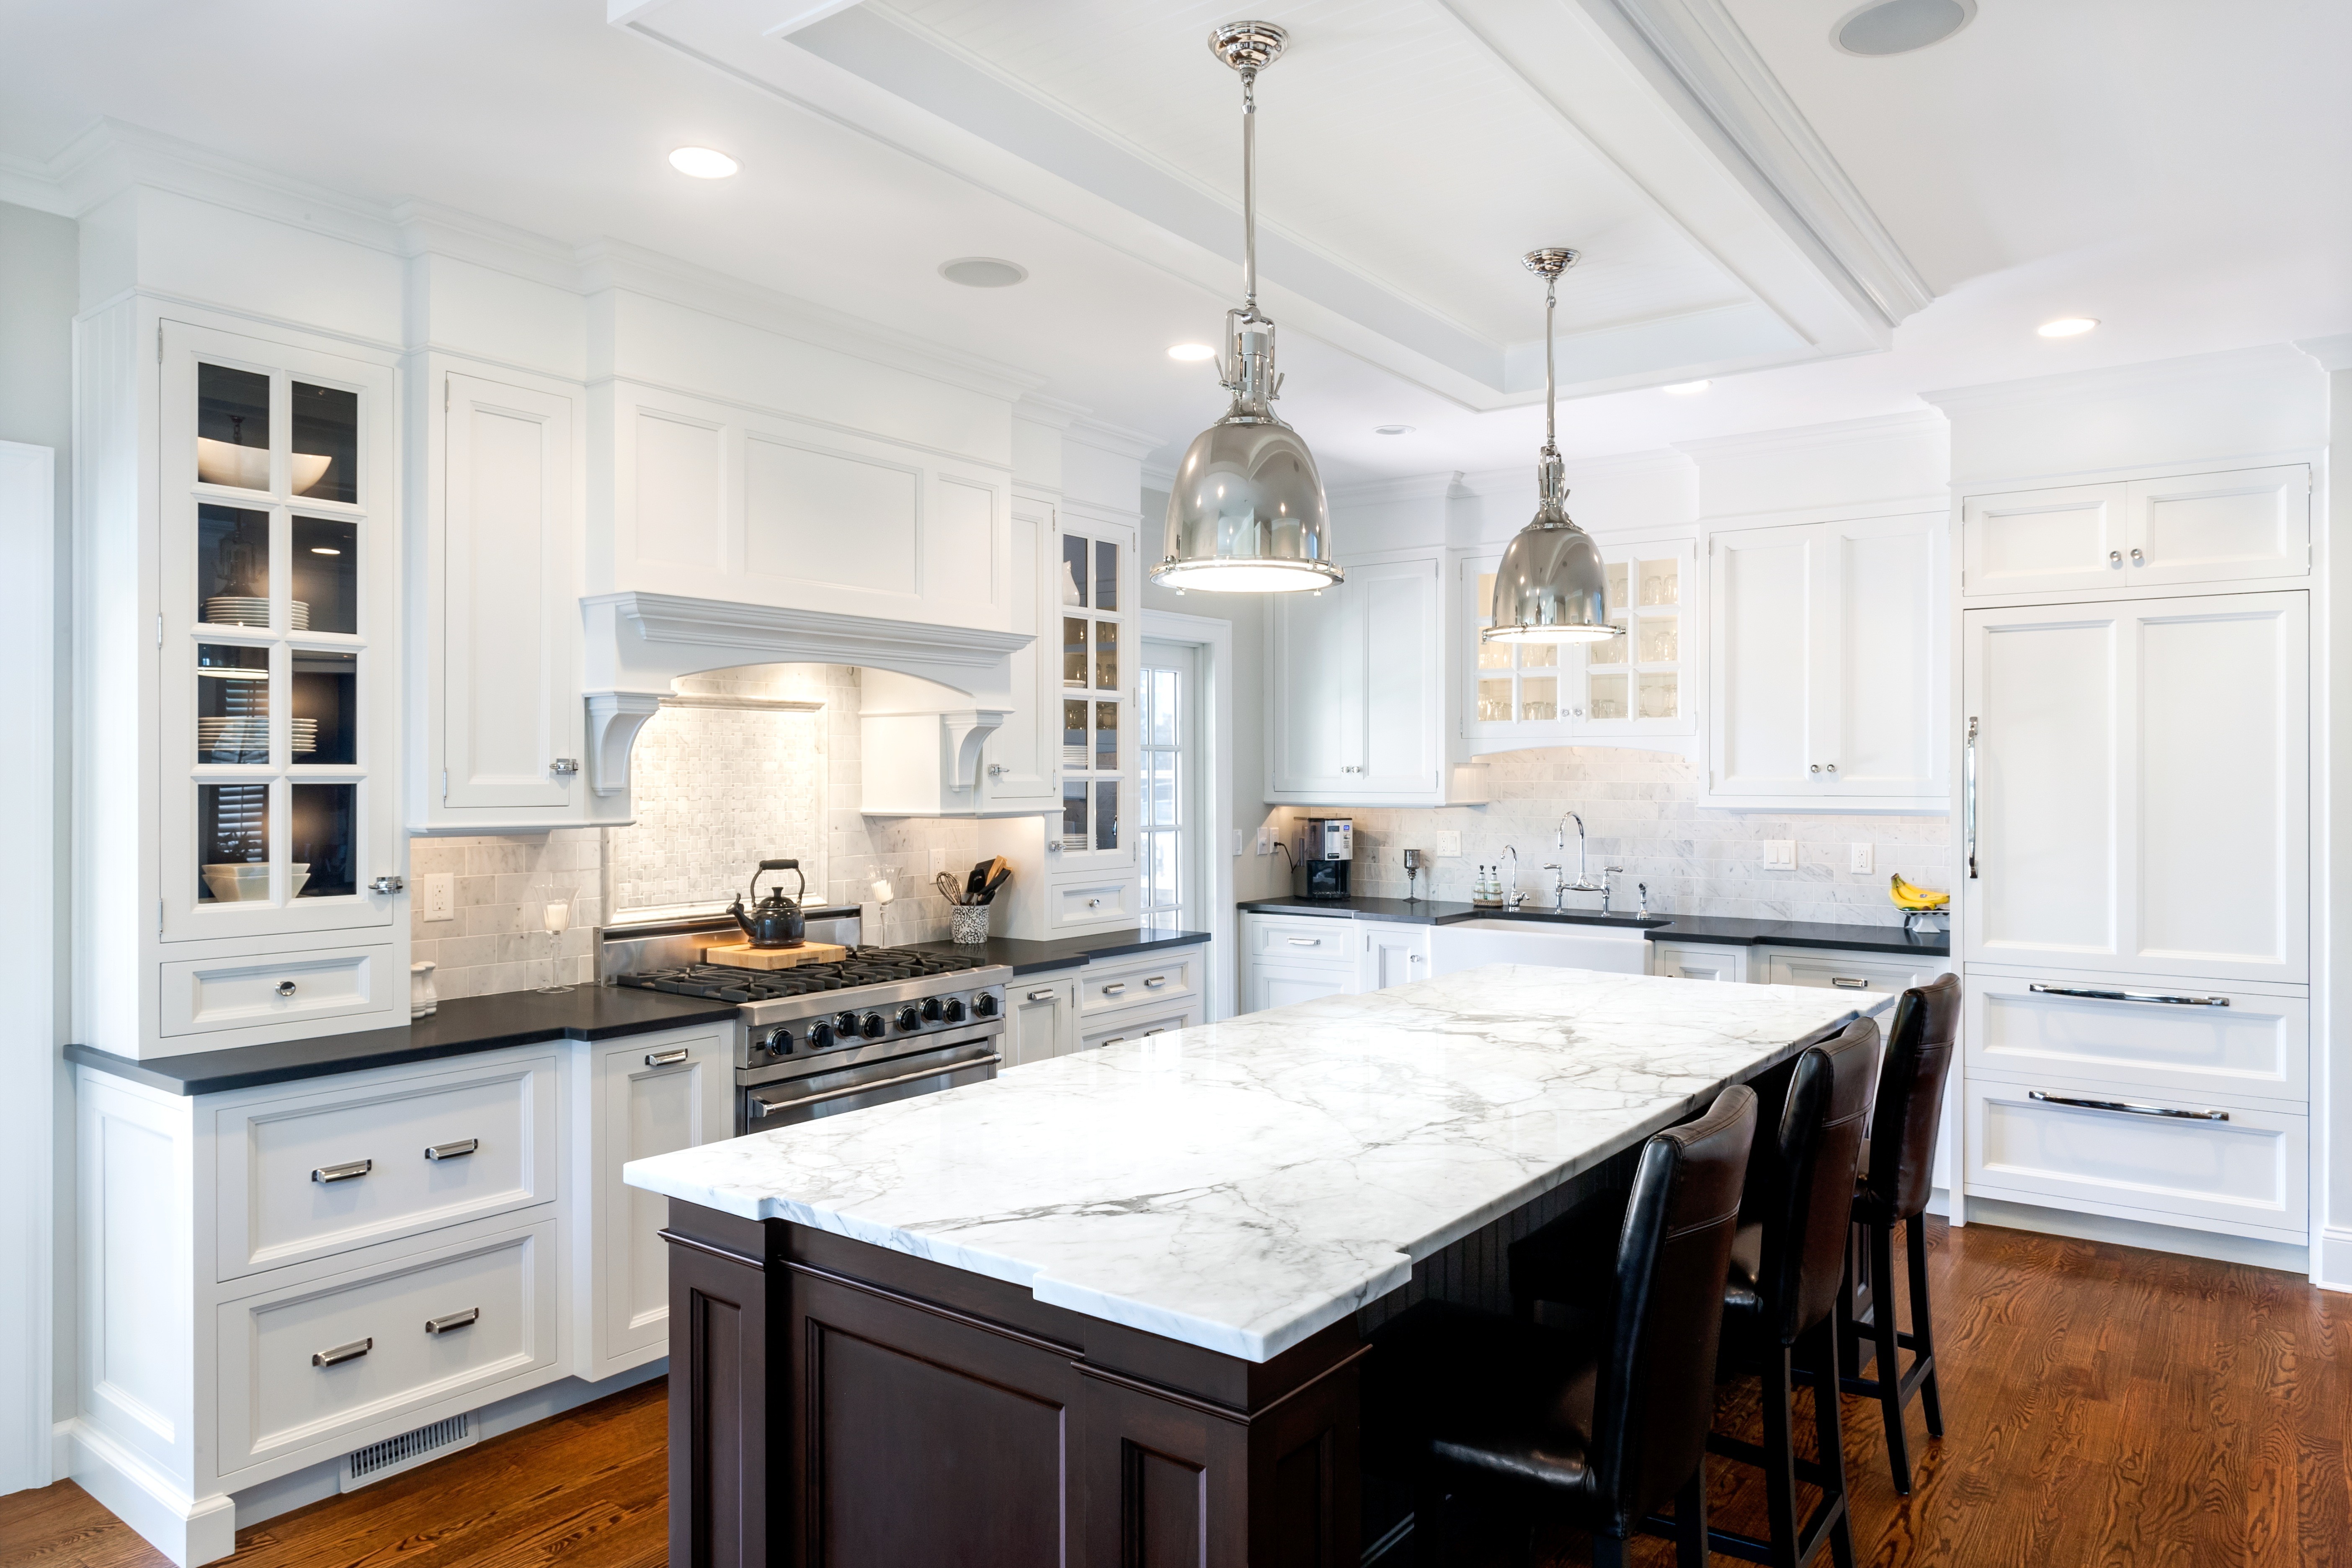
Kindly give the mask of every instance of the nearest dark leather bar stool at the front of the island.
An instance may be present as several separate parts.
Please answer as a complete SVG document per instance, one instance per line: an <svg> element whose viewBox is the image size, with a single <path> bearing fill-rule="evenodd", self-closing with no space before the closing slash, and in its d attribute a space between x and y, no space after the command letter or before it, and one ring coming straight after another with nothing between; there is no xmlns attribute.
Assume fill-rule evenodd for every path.
<svg viewBox="0 0 2352 1568"><path fill-rule="evenodd" d="M1435 1566L1449 1500L1550 1509L1592 1530L1618 1568L1642 1521L1675 1500L1677 1561L1708 1554L1705 1441L1755 1091L1733 1084L1708 1114L1642 1147L1599 1312L1543 1328L1425 1302L1378 1340L1367 1415L1414 1469L1414 1561Z"/></svg>

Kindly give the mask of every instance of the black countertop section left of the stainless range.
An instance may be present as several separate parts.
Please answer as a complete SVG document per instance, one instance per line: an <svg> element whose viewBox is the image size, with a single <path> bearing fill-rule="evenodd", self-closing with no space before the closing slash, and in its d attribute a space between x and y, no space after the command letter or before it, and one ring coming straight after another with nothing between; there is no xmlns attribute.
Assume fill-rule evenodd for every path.
<svg viewBox="0 0 2352 1568"><path fill-rule="evenodd" d="M230 1051L188 1051L132 1060L92 1046L66 1046L66 1060L99 1067L148 1088L176 1095L209 1095L259 1084L289 1084L332 1072L397 1067L442 1056L470 1056L499 1046L529 1046L543 1039L616 1039L682 1030L689 1023L734 1018L734 1001L673 997L670 992L623 990L614 985L574 985L560 997L541 992L506 992L499 997L454 997L430 1018L402 1030L358 1030L289 1039L275 1046L235 1046Z"/></svg>

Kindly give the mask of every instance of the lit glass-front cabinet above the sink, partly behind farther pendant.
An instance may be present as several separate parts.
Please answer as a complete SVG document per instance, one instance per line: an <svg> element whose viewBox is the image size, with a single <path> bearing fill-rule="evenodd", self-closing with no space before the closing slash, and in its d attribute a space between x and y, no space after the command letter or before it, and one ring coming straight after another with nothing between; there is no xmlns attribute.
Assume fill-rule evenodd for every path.
<svg viewBox="0 0 2352 1568"><path fill-rule="evenodd" d="M1479 639L1494 625L1496 564L1498 557L1482 557L1461 569L1468 738L1545 745L1698 733L1684 649L1693 625L1691 541L1604 543L1604 607L1616 635L1585 644Z"/></svg>

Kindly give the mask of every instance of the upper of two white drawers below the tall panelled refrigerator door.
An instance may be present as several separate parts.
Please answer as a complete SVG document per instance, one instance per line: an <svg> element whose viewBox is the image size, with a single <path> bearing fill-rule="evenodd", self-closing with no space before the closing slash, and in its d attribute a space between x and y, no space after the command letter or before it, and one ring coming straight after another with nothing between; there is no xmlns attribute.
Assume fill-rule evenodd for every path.
<svg viewBox="0 0 2352 1568"><path fill-rule="evenodd" d="M2067 1079L2119 1098L2220 1093L2310 1107L2305 997L2164 978L1971 973L1962 1039L1969 1072Z"/></svg>

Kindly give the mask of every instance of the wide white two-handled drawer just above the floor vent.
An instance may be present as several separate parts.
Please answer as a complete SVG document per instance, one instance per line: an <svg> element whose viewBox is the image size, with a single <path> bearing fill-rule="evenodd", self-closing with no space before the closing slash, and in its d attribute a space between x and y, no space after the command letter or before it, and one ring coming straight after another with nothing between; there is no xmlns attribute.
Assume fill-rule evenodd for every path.
<svg viewBox="0 0 2352 1568"><path fill-rule="evenodd" d="M223 1476L374 1441L555 1361L555 1220L221 1302L216 1335Z"/></svg>

